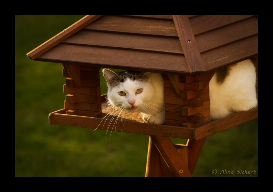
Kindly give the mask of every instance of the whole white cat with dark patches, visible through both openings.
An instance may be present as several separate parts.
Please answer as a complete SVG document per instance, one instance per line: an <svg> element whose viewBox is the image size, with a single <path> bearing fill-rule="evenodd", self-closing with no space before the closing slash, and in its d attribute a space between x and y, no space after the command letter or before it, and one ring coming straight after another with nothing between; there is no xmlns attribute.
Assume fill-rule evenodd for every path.
<svg viewBox="0 0 273 192"><path fill-rule="evenodd" d="M164 81L159 73L103 69L112 106L140 112L147 123L164 124ZM211 119L257 106L256 72L250 59L218 70L210 81Z"/></svg>

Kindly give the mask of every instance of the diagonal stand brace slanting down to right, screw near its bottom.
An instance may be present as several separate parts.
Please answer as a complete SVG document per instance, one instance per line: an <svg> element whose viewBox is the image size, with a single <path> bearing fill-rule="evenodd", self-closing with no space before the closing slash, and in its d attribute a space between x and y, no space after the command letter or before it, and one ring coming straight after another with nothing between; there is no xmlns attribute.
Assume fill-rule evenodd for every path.
<svg viewBox="0 0 273 192"><path fill-rule="evenodd" d="M160 136L151 136L151 138L174 177L192 176L170 138Z"/></svg>

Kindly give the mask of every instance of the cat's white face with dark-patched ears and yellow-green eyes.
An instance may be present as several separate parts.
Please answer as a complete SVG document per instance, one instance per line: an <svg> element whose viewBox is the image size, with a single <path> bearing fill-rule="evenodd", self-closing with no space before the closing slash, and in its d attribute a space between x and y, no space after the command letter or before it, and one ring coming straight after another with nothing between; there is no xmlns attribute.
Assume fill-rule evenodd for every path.
<svg viewBox="0 0 273 192"><path fill-rule="evenodd" d="M130 112L143 112L145 103L153 98L153 86L149 82L149 73L114 73L103 70L108 85L108 100L116 106Z"/></svg>

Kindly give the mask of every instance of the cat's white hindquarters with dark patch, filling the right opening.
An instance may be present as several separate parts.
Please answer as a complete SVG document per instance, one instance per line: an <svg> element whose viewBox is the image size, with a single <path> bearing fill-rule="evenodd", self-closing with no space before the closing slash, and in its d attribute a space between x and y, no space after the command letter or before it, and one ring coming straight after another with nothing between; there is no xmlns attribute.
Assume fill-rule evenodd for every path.
<svg viewBox="0 0 273 192"><path fill-rule="evenodd" d="M212 120L258 105L256 71L251 59L218 70L209 85Z"/></svg>

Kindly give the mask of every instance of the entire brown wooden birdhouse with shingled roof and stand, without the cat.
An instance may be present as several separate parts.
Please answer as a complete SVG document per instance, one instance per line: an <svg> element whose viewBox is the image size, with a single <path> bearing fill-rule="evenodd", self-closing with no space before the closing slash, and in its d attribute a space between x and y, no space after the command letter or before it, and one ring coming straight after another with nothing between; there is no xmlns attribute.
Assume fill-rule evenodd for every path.
<svg viewBox="0 0 273 192"><path fill-rule="evenodd" d="M115 127L150 135L146 176L191 176L207 136L258 117L256 108L212 121L209 92L217 69L249 58L258 69L255 15L88 15L27 56L64 66L64 109L49 114L56 125L120 125L120 119L103 119L110 110L100 93L101 68L162 74L166 124L127 114L123 126ZM169 137L188 143L177 146Z"/></svg>

